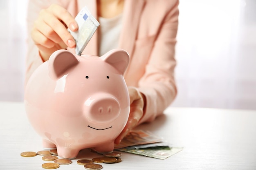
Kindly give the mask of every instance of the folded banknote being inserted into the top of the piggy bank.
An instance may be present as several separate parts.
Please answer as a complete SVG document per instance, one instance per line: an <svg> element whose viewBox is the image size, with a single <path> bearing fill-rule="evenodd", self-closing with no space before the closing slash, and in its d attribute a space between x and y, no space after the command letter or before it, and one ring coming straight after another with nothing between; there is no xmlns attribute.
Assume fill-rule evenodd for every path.
<svg viewBox="0 0 256 170"><path fill-rule="evenodd" d="M99 22L92 16L87 7L83 7L76 15L75 20L78 24L78 31L73 32L70 29L67 29L67 31L70 32L76 42L76 55L81 55L92 35L99 27Z"/></svg>

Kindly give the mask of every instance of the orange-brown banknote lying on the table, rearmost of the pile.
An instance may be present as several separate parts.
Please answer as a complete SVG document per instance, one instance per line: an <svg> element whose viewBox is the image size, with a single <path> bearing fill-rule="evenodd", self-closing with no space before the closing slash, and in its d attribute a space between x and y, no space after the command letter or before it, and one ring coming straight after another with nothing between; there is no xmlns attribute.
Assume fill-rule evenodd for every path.
<svg viewBox="0 0 256 170"><path fill-rule="evenodd" d="M153 144L157 142L161 142L163 139L158 137L151 132L144 131L144 130L136 130L130 132L124 139L121 141L120 144L115 145L115 149L125 148L128 146L135 146L135 145L143 145L143 144Z"/></svg>

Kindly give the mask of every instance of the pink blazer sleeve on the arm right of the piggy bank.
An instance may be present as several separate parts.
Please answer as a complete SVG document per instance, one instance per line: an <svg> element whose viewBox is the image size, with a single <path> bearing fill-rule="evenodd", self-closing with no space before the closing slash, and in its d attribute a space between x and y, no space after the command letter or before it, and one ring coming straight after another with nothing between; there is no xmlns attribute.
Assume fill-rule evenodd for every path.
<svg viewBox="0 0 256 170"><path fill-rule="evenodd" d="M146 97L144 115L139 123L153 121L173 102L177 94L174 79L175 44L178 27L178 4L166 14L153 45L144 75L139 80L139 91Z"/></svg>

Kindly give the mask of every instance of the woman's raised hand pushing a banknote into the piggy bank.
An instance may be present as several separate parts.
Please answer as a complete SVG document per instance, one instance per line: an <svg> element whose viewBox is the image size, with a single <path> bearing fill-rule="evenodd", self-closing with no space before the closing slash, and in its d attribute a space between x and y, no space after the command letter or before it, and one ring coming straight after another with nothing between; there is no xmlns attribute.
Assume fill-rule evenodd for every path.
<svg viewBox="0 0 256 170"><path fill-rule="evenodd" d="M78 25L71 14L63 7L52 4L47 9L42 9L34 22L31 38L39 49L44 61L58 49L74 48L76 43L67 27L78 30Z"/></svg>

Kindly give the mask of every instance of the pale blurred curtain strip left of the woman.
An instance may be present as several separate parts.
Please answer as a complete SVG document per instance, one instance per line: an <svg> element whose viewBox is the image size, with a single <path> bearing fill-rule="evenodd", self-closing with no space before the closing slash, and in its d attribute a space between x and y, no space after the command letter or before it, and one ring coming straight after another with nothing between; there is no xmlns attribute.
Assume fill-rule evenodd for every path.
<svg viewBox="0 0 256 170"><path fill-rule="evenodd" d="M0 0L0 101L22 101L27 0Z"/></svg>

